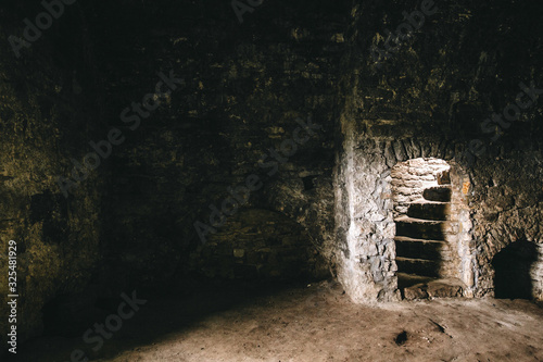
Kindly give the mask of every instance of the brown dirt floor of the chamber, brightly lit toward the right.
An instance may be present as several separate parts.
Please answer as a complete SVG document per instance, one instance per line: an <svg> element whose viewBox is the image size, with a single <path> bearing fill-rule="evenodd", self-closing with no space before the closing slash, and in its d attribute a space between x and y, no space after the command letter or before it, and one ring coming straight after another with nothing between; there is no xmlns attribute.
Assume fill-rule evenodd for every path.
<svg viewBox="0 0 543 362"><path fill-rule="evenodd" d="M102 362L543 361L543 309L526 300L367 307L329 282L143 297L98 353L81 337L50 336L21 346L13 361L70 361L76 348Z"/></svg>

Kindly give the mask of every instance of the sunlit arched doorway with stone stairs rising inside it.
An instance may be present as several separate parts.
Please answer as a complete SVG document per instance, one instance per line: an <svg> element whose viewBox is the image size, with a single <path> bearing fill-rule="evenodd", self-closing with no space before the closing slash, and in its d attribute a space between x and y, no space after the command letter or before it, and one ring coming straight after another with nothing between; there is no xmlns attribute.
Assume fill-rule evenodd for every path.
<svg viewBox="0 0 543 362"><path fill-rule="evenodd" d="M404 298L463 296L472 280L467 176L419 158L392 167L397 283Z"/></svg>

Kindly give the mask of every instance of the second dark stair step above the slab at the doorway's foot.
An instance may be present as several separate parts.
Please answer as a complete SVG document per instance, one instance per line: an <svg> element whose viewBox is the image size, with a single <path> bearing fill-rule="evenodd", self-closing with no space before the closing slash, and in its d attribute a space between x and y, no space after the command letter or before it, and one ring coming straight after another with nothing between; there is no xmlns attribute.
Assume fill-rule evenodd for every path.
<svg viewBox="0 0 543 362"><path fill-rule="evenodd" d="M396 236L394 242L397 257L427 260L449 260L452 257L451 248L446 241Z"/></svg>

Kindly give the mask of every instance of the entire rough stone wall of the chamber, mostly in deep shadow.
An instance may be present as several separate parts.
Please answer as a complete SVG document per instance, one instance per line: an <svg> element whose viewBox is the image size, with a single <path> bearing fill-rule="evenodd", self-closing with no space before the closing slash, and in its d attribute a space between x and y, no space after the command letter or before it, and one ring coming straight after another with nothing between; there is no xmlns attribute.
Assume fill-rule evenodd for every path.
<svg viewBox="0 0 543 362"><path fill-rule="evenodd" d="M22 338L39 333L47 301L81 291L93 272L113 296L194 275L330 270L355 301L397 300L391 167L417 158L468 176L458 273L473 296L492 296L494 255L517 240L543 242L541 100L523 96L532 104L510 126L485 122L521 84L543 86L533 32L542 11L435 7L379 64L371 47L382 50L386 29L418 1L265 2L242 24L225 1L77 2L21 60L3 52L0 233L21 242ZM7 5L1 40L41 11ZM179 78L176 89L130 129L124 110L155 92L161 72ZM308 116L318 129L286 157L281 145ZM112 127L126 141L65 199L56 175ZM194 222L209 222L210 205L252 174L263 187L202 247ZM277 227L251 246L242 230L270 219ZM310 259L296 271L274 261L291 252L293 263Z"/></svg>

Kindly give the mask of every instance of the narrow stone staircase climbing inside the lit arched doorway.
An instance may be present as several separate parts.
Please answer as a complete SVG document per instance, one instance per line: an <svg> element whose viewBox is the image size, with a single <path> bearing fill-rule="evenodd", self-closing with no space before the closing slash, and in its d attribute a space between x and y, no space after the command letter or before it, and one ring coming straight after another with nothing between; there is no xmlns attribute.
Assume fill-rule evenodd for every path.
<svg viewBox="0 0 543 362"><path fill-rule="evenodd" d="M422 191L421 200L409 204L406 215L395 219L397 285L406 299L462 295L459 280L439 279L443 262L452 259L447 235L455 233L447 217L451 183L439 182ZM429 295L432 290L433 296Z"/></svg>

